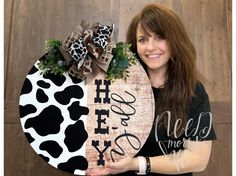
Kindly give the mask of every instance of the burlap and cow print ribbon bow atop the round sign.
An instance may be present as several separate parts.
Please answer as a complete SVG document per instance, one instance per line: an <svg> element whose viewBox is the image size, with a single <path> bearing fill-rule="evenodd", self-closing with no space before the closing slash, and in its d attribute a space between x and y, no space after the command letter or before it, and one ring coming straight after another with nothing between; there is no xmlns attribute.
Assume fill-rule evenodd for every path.
<svg viewBox="0 0 236 176"><path fill-rule="evenodd" d="M70 66L69 74L84 80L88 75L106 72L112 59L114 25L99 23L91 28L84 21L63 41L60 52Z"/></svg>

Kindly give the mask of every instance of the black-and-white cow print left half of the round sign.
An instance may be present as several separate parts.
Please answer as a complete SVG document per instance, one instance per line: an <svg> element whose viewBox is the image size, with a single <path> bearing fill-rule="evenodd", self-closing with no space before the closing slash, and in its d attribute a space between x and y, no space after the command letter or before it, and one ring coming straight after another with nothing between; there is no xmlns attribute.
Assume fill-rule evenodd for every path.
<svg viewBox="0 0 236 176"><path fill-rule="evenodd" d="M88 168L86 97L84 82L68 74L42 76L36 63L25 79L19 102L21 125L36 153L55 168L75 175L85 175Z"/></svg>

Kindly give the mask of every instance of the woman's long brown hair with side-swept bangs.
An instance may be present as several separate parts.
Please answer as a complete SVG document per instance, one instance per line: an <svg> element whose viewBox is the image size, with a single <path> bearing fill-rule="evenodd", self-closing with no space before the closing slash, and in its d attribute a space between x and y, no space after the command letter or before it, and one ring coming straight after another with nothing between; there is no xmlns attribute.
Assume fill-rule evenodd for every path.
<svg viewBox="0 0 236 176"><path fill-rule="evenodd" d="M169 8L150 4L135 16L127 32L127 42L132 44L131 50L137 54L136 33L140 26L147 35L149 31L166 39L171 58L168 62L167 81L161 96L156 100L156 116L165 111L171 112L171 130L177 119L182 120L178 133L182 134L187 123L187 108L194 95L199 76L196 71L196 51L190 41L185 27L179 17ZM138 54L137 54L138 56ZM146 65L139 58L146 69ZM160 127L167 127L167 119L161 121Z"/></svg>

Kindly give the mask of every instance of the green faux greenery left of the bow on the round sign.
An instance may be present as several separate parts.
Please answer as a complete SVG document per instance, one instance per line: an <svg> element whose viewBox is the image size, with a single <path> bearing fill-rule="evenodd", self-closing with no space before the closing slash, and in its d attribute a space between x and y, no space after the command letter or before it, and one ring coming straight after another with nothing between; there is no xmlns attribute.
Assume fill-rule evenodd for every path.
<svg viewBox="0 0 236 176"><path fill-rule="evenodd" d="M45 43L46 54L45 57L40 59L38 63L41 74L46 75L48 73L54 75L62 75L69 70L59 47L62 42L59 40L51 39Z"/></svg>

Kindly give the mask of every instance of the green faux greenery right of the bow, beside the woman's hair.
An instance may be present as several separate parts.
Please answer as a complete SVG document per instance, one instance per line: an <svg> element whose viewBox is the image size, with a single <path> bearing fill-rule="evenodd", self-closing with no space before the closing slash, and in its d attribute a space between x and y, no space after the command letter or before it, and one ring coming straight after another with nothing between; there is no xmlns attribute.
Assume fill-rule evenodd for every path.
<svg viewBox="0 0 236 176"><path fill-rule="evenodd" d="M131 44L119 42L116 44L116 47L113 48L113 58L107 71L107 79L112 82L120 78L127 80L129 77L127 68L137 63L137 58L130 50L130 47Z"/></svg>

